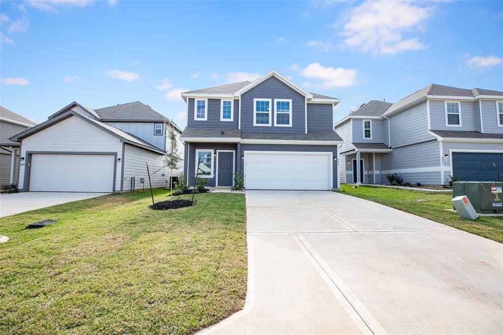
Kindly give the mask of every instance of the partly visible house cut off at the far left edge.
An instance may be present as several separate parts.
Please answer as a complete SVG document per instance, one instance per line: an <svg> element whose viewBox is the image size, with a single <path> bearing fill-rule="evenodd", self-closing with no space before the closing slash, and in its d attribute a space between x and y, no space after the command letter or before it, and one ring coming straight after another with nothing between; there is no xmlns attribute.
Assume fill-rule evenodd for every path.
<svg viewBox="0 0 503 335"><path fill-rule="evenodd" d="M35 125L0 106L0 185L17 183L19 176L19 143L9 138Z"/></svg>

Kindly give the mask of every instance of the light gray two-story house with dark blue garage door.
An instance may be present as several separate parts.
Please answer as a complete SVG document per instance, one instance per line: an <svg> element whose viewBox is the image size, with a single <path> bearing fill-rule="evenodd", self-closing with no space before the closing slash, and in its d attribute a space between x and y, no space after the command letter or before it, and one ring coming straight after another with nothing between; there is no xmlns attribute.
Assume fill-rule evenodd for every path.
<svg viewBox="0 0 503 335"><path fill-rule="evenodd" d="M395 104L371 101L334 125L343 183L444 185L503 173L503 92L432 84ZM356 173L359 171L360 173Z"/></svg>

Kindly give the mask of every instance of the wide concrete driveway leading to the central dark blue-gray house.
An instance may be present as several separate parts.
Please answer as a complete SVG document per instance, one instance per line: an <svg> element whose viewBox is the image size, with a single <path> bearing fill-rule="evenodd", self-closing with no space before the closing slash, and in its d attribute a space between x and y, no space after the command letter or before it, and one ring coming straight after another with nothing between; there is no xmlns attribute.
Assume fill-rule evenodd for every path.
<svg viewBox="0 0 503 335"><path fill-rule="evenodd" d="M500 243L333 192L246 212L246 304L202 333L503 333Z"/></svg>

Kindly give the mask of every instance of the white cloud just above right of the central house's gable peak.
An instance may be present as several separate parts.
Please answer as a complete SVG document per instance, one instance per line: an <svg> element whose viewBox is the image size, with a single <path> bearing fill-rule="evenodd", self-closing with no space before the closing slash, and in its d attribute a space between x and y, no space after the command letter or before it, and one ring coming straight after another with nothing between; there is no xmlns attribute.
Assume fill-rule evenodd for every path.
<svg viewBox="0 0 503 335"><path fill-rule="evenodd" d="M349 87L357 85L357 71L342 67L324 67L320 63L311 63L300 72L306 78L317 79L319 82L305 82L306 87L317 87L321 89L331 89L336 87Z"/></svg>

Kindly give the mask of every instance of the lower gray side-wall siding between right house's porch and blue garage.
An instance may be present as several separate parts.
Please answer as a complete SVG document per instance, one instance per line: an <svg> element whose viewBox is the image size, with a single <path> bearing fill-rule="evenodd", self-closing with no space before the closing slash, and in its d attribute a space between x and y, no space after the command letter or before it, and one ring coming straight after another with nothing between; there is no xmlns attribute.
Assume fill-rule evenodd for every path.
<svg viewBox="0 0 503 335"><path fill-rule="evenodd" d="M429 167L433 171L414 173L402 171L421 167ZM396 172L403 177L405 183L439 185L440 169L440 144L437 140L401 146L393 148L390 153L381 154L381 181L383 183L386 182L387 174Z"/></svg>

